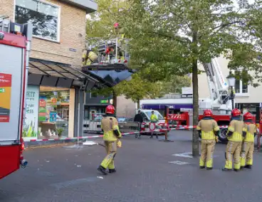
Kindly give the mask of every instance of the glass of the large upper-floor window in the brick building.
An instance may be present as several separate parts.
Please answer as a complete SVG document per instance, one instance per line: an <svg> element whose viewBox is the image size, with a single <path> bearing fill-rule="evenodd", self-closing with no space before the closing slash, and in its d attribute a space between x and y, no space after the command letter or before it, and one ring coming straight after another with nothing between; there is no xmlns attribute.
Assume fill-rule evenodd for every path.
<svg viewBox="0 0 262 202"><path fill-rule="evenodd" d="M16 0L16 23L32 23L33 36L59 41L59 7L38 0Z"/></svg>

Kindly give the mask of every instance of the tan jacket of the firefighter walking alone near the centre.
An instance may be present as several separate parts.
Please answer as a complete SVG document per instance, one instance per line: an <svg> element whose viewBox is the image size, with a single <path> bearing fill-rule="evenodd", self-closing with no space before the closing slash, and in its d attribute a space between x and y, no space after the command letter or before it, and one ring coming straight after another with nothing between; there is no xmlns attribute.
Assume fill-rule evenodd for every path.
<svg viewBox="0 0 262 202"><path fill-rule="evenodd" d="M103 129L104 136L103 139L105 141L115 142L117 139L120 139L122 137L122 134L118 127L118 122L115 117L112 116L105 116L101 120L101 129ZM120 136L116 136L114 133L114 130L117 130Z"/></svg>

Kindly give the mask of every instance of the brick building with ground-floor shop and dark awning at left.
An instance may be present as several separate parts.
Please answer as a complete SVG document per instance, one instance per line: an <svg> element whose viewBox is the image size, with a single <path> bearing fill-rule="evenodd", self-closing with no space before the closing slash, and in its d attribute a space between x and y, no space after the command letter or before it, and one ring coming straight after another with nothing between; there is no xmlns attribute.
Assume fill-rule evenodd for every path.
<svg viewBox="0 0 262 202"><path fill-rule="evenodd" d="M85 78L74 68L82 63L86 14L96 10L91 0L1 0L0 18L33 24L27 91L37 96L27 107L35 105L36 113L26 115L24 139L57 138L61 130L64 137L77 135L79 84ZM26 136L32 125L34 135Z"/></svg>

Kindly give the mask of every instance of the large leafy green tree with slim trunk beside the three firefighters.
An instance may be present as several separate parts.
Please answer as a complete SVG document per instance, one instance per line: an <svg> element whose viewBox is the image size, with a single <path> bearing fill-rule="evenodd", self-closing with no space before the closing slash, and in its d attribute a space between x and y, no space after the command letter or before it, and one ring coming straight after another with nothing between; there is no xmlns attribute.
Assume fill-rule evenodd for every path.
<svg viewBox="0 0 262 202"><path fill-rule="evenodd" d="M247 0L129 0L132 65L152 67L159 78L193 73L193 124L199 117L198 63L224 54L229 68L244 65L257 73L261 55L261 1ZM157 67L157 70L154 68ZM248 77L252 79L252 77ZM252 80L250 81L252 82ZM198 133L193 132L193 156L199 156Z"/></svg>

